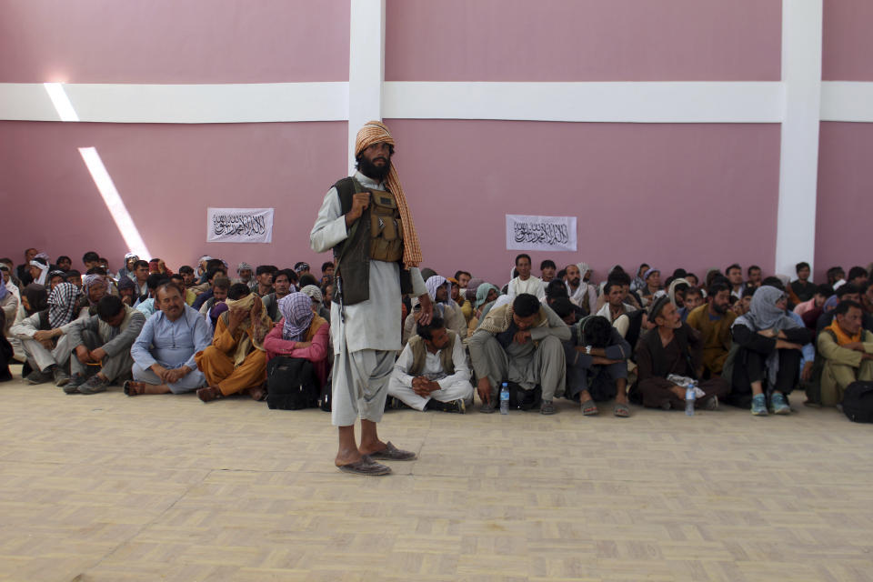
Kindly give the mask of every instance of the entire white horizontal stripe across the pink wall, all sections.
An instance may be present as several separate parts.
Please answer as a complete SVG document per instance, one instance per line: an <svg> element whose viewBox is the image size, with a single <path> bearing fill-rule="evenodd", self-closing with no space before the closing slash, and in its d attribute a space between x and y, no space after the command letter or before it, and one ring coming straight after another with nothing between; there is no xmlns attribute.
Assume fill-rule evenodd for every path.
<svg viewBox="0 0 873 582"><path fill-rule="evenodd" d="M378 62L381 63L381 56ZM81 121L253 123L506 119L638 123L779 123L785 84L353 83L66 84ZM361 95L369 95L367 98ZM381 113L381 115L379 115ZM821 84L822 121L873 123L873 83ZM60 121L42 83L0 83L0 120ZM354 133L350 147L354 145Z"/></svg>

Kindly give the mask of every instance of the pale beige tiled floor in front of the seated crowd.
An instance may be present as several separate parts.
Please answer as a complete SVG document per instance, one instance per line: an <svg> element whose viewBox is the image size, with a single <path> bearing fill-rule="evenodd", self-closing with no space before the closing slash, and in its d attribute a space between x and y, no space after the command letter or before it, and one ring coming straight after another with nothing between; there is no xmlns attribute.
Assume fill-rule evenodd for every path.
<svg viewBox="0 0 873 582"><path fill-rule="evenodd" d="M386 414L420 460L333 467L318 410L0 384L0 580L873 580L873 426Z"/></svg>

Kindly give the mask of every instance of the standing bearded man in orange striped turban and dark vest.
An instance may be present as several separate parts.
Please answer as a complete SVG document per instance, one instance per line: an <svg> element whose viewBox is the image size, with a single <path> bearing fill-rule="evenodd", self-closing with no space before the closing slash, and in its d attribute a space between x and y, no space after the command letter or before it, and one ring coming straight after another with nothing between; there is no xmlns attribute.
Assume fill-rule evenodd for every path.
<svg viewBox="0 0 873 582"><path fill-rule="evenodd" d="M367 122L357 133L355 176L332 186L309 235L316 253L334 251L336 290L330 327L334 362L331 420L339 427L335 464L362 475L388 475L376 459L414 460L416 454L379 440L388 380L400 350L401 295L418 296L419 323L433 313L418 271L421 248L406 196L391 164L394 138L386 125ZM361 443L355 420L361 417Z"/></svg>

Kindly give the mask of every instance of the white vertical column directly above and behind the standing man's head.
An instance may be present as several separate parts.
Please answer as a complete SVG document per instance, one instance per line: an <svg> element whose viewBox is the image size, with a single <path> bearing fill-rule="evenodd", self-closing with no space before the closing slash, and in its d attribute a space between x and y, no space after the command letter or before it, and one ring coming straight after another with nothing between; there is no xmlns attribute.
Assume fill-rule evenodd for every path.
<svg viewBox="0 0 873 582"><path fill-rule="evenodd" d="M348 166L355 167L355 136L382 119L385 80L385 0L351 0L348 56Z"/></svg>

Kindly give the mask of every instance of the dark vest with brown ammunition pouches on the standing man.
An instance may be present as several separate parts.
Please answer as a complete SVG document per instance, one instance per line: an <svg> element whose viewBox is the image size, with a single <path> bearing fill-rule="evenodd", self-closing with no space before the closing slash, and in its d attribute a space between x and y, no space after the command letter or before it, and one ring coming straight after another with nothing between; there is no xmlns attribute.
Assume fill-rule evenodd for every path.
<svg viewBox="0 0 873 582"><path fill-rule="evenodd" d="M348 227L348 237L334 246L336 289L333 301L353 306L370 298L370 259L390 263L403 258L403 224L390 192L367 190L353 177L334 185L342 213L352 209L356 193L370 192L371 203ZM400 264L400 293L412 293L412 277Z"/></svg>

